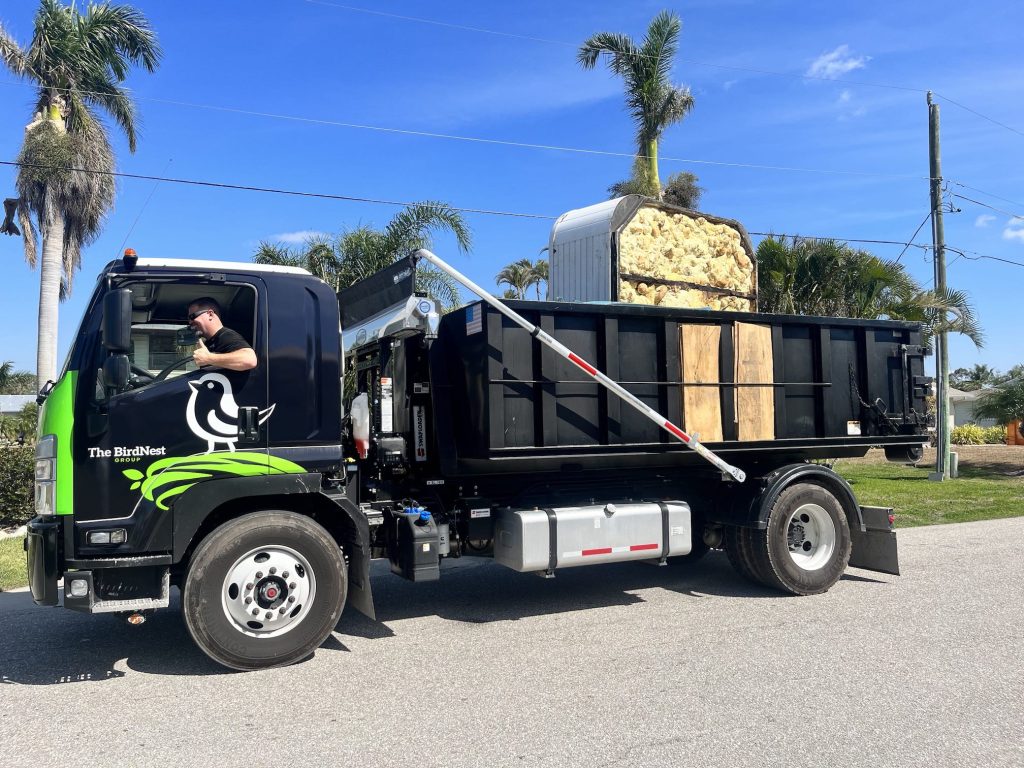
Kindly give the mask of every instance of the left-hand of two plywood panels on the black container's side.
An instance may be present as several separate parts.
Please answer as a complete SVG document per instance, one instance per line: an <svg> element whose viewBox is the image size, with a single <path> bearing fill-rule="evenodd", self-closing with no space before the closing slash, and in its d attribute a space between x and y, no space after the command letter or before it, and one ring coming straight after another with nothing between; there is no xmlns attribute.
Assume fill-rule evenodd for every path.
<svg viewBox="0 0 1024 768"><path fill-rule="evenodd" d="M722 440L720 387L687 386L719 382L718 350L722 337L719 326L679 327L679 348L683 375L683 427L700 435L701 442Z"/></svg>

